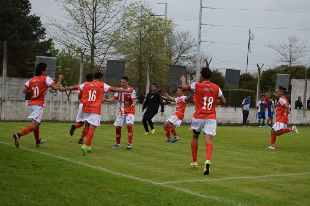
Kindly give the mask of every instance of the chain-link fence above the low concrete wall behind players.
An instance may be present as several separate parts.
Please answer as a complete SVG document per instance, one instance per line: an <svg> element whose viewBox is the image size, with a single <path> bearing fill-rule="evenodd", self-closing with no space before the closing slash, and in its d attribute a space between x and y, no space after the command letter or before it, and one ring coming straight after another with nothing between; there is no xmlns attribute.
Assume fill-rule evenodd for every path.
<svg viewBox="0 0 310 206"><path fill-rule="evenodd" d="M3 42L0 42L3 45ZM0 50L0 91L2 100L25 100L26 96L23 94L22 90L24 84L34 76L34 68L36 63L45 62L48 66L48 76L58 81L57 74L57 61L53 57L23 57L22 51L15 51L7 47L6 49ZM3 57L3 58L2 58ZM108 60L109 61L109 60ZM80 64L80 63L79 63ZM104 82L112 87L120 87L120 78L124 76L124 71L126 62L123 61L111 61L107 62L106 67L97 68L96 71L101 71L104 74ZM255 64L250 64L248 71L246 68L245 62L237 64L233 61L224 61L213 59L210 64L210 69L212 70L212 77L210 81L220 86L223 91L223 94L227 100L226 106L230 107L241 107L242 100L246 98L246 94L252 94L251 100L255 102L256 105L256 95L260 96L262 92L270 98L271 95L274 95L274 92L277 90L279 85L284 86L288 89L286 93L286 98L289 100L292 108L295 108L295 102L298 100L298 97L301 97L301 102L303 108L306 108L306 102L310 97L310 72L307 73L307 69L304 72L303 70L298 70L295 72L287 72L281 70L285 78L277 78L277 74L271 74L272 69L265 69L260 71L260 85L258 86L258 77L259 71L255 68ZM258 65L257 65L258 66ZM79 67L79 65L78 65ZM106 69L109 67L109 69ZM193 83L193 70L190 66L169 66L169 88L158 88L162 91L167 92L170 96L176 97L176 90L181 85L179 77L184 75L187 77L187 84ZM242 69L240 69L242 68ZM266 67L267 68L267 67ZM117 75L115 75L117 74ZM270 73L270 74L269 74ZM285 73L285 74L283 74ZM300 73L303 73L301 75ZM295 74L300 74L295 75ZM85 81L85 74L83 74L83 79ZM3 78L3 76L5 78ZM117 78L115 79L115 76ZM114 79L113 79L113 78ZM131 76L129 77L129 83L131 82ZM177 78L176 78L177 77ZM78 78L78 77L77 77ZM111 79L112 78L112 79ZM146 79L146 77L145 77ZM309 79L309 80L308 80ZM306 81L307 80L307 81ZM83 82L84 82L83 81ZM266 85L269 87L266 87ZM130 84L129 84L130 85ZM141 92L138 91L139 83L131 85L135 90L136 94L139 95ZM238 90L236 93L235 89ZM233 92L232 92L233 91ZM164 92L163 92L164 93ZM193 92L187 92L187 95L193 94ZM238 94L238 95L236 95ZM114 93L109 93L108 97L112 98ZM136 97L139 99L139 96ZM71 94L66 94L65 92L57 92L53 89L49 89L46 97L46 101L78 101L78 94L76 91L73 91Z"/></svg>

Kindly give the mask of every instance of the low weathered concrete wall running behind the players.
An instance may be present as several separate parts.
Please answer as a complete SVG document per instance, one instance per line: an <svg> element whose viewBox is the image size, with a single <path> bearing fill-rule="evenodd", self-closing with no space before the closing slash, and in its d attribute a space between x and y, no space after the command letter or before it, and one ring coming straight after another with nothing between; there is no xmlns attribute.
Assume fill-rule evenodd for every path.
<svg viewBox="0 0 310 206"><path fill-rule="evenodd" d="M0 120L1 121L30 121L28 118L29 101L24 100L6 100L0 101ZM46 101L42 121L62 121L75 122L78 112L79 102L56 102ZM142 122L144 112L141 112L142 104L136 105L135 122ZM165 105L163 116L155 115L153 122L163 124L171 115L174 114L175 105ZM188 104L185 110L183 124L190 124L195 111L194 104ZM113 123L117 116L118 106L116 103L102 103L101 121L103 123ZM218 125L242 125L241 108L217 107ZM289 122L296 125L310 125L310 110L292 110L293 116L289 115ZM257 110L250 108L247 125L257 125ZM274 117L275 119L275 117Z"/></svg>

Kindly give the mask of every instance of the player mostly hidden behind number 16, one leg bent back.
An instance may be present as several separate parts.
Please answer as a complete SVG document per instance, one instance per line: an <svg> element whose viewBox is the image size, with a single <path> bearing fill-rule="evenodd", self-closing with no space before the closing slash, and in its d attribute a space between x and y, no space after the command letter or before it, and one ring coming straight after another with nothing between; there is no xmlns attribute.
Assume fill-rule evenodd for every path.
<svg viewBox="0 0 310 206"><path fill-rule="evenodd" d="M86 80L87 81L93 81L94 80L94 74L93 73L89 73L86 75ZM63 88L59 88L59 91L62 92L64 91ZM79 110L78 110L78 114L76 115L76 123L74 125L71 126L70 129L70 135L72 136L74 134L75 129L80 128L84 125L84 121L85 121L85 114L83 112L83 102L82 102L82 98L83 98L83 91L78 91L78 98L80 100L80 104L79 104ZM82 131L82 135L79 139L79 144L84 144L83 139L86 136L87 132L89 129L89 124L85 124L85 127Z"/></svg>

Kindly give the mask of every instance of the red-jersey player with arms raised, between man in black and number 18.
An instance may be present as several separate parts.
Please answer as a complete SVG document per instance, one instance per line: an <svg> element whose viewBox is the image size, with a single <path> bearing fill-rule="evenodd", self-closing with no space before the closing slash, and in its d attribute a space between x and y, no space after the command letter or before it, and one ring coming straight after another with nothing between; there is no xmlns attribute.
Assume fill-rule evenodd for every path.
<svg viewBox="0 0 310 206"><path fill-rule="evenodd" d="M175 132L175 129L177 126L180 126L183 121L187 101L193 98L193 95L189 95L189 97L186 97L183 94L184 91L182 90L182 87L179 87L177 90L177 98L170 97L167 93L164 94L165 97L175 102L175 113L174 115L169 117L169 119L167 119L164 124L165 135L168 138L166 142L175 142L180 140L180 137ZM173 140L171 139L170 131L174 135Z"/></svg>

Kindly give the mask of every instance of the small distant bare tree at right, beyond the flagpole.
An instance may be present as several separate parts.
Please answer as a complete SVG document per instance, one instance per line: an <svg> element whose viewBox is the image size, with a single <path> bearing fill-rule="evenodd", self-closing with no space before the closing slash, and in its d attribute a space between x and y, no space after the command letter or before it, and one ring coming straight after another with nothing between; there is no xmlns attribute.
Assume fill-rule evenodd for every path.
<svg viewBox="0 0 310 206"><path fill-rule="evenodd" d="M275 62L285 62L289 66L301 63L303 58L308 56L309 50L305 45L307 42L299 44L299 40L296 36L291 36L288 37L287 41L283 39L282 43L275 45L269 43L268 47L274 49L276 51L275 55L278 57Z"/></svg>

